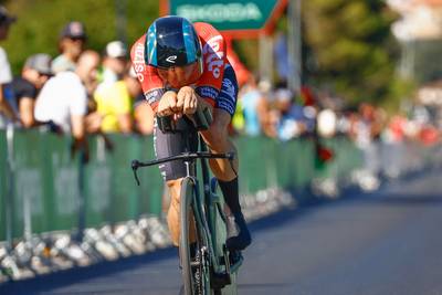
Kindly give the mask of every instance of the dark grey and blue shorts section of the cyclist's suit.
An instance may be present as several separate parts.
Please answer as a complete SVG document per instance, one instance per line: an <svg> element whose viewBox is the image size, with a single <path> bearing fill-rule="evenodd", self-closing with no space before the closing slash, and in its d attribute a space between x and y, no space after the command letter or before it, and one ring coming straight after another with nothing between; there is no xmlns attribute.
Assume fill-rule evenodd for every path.
<svg viewBox="0 0 442 295"><path fill-rule="evenodd" d="M223 109L233 116L236 108L238 91L239 86L234 71L231 66L228 66L224 70L222 87L214 107ZM181 118L177 122L177 125L181 129L186 128L187 123ZM189 140L189 145L187 145L186 140ZM165 134L157 127L157 123L155 123L154 147L157 159L179 155L186 151L187 146L190 148L189 151L198 150L198 133L193 133L190 137L187 137L182 133ZM165 162L158 167L165 181L186 177L186 165L182 160Z"/></svg>

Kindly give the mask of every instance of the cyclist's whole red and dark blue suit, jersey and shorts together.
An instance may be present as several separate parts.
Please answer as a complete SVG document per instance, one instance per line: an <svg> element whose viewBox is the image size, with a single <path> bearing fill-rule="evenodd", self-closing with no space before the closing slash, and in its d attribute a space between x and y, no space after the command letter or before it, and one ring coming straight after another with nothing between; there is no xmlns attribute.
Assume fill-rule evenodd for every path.
<svg viewBox="0 0 442 295"><path fill-rule="evenodd" d="M193 25L202 45L203 72L192 86L197 94L212 106L223 109L233 116L236 108L239 86L233 67L227 60L225 41L208 23L200 22ZM156 112L162 94L171 87L161 80L155 66L146 64L145 41L146 35L144 34L135 42L130 50L130 57L145 98ZM187 141L194 148L198 146L198 137L183 139L179 133L167 134L158 129L157 126L154 128L154 145L157 158L175 156L185 151ZM182 160L162 164L159 169L165 180L179 179L186 176L186 165Z"/></svg>

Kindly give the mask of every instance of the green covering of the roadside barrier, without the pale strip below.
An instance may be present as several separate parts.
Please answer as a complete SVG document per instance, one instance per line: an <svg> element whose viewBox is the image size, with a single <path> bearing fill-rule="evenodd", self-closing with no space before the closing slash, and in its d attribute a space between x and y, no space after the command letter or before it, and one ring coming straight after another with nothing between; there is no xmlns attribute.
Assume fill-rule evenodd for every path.
<svg viewBox="0 0 442 295"><path fill-rule="evenodd" d="M103 137L91 137L87 165L81 164L78 155L72 157L69 137L15 130L10 139L12 152L8 152L7 131L0 131L0 241L94 228L161 211L164 187L158 170L141 169L140 187L130 170L131 159L154 158L151 137L110 135L110 148ZM346 138L327 141L335 147L335 159L322 170L315 168L311 139L281 143L239 137L235 144L241 155L242 194L270 187L301 188L315 176L348 173L362 158Z"/></svg>

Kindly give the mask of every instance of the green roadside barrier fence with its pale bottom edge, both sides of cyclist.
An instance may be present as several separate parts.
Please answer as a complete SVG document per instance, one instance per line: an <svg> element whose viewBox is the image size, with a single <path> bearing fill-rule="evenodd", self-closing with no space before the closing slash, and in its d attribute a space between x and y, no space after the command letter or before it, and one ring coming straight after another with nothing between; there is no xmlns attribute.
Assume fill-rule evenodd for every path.
<svg viewBox="0 0 442 295"><path fill-rule="evenodd" d="M322 139L333 152L326 162L314 138L234 141L249 219L312 198L306 188L336 198L348 185L375 190L383 177L442 164L441 145L412 141L357 147L346 137ZM139 170L139 187L130 169L133 159L155 157L151 137L93 136L86 165L70 146L69 137L40 130L0 130L0 283L170 245L158 218L158 169Z"/></svg>

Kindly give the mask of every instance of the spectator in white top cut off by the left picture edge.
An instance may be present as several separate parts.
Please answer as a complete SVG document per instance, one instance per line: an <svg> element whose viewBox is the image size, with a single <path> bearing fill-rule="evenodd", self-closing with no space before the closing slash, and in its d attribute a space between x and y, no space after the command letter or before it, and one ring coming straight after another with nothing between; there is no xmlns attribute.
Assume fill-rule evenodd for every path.
<svg viewBox="0 0 442 295"><path fill-rule="evenodd" d="M0 41L7 40L9 27L17 20L15 17L9 14L8 10L0 6ZM18 116L8 102L7 84L12 81L11 66L8 61L6 51L0 46L0 128L4 127L7 118L15 122Z"/></svg>

